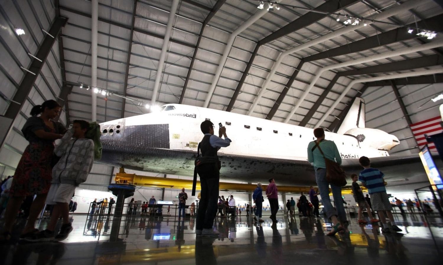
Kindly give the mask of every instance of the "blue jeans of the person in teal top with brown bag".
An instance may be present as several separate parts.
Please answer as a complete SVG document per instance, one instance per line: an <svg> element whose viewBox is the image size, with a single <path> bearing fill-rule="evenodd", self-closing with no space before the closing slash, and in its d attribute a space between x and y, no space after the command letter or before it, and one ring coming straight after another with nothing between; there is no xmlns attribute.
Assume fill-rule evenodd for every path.
<svg viewBox="0 0 443 265"><path fill-rule="evenodd" d="M317 186L319 186L320 197L322 197L322 203L324 208L324 212L328 218L331 216L338 216L338 219L341 222L346 221L346 212L343 207L343 198L342 198L342 187L335 186L334 184L329 184L326 181L326 169L318 168L315 170L315 180L317 181ZM332 190L332 197L334 198L335 207L332 206L331 200L329 198L329 185Z"/></svg>

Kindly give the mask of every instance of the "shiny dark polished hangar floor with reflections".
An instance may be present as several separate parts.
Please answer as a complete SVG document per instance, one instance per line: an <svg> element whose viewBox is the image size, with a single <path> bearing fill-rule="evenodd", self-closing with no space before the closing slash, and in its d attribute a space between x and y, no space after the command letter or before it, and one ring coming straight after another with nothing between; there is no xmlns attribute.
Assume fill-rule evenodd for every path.
<svg viewBox="0 0 443 265"><path fill-rule="evenodd" d="M62 242L2 244L0 264L441 264L443 220L396 216L400 233L383 234L350 218L348 232L326 236L324 219L277 216L256 224L246 216L217 218L218 238L195 237L194 217L74 215ZM0 221L0 225L2 222ZM39 228L47 225L39 222Z"/></svg>

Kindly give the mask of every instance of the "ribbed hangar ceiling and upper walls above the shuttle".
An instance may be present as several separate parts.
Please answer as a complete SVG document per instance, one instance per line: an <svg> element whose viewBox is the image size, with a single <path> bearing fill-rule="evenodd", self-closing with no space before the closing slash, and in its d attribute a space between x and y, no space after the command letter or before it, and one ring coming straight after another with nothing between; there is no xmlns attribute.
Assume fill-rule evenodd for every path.
<svg viewBox="0 0 443 265"><path fill-rule="evenodd" d="M334 131L359 96L366 100L367 127L400 139L392 155L417 153L408 125L439 115L439 102L430 99L443 91L443 74L413 72L442 68L441 1L280 0L268 10L269 3L259 9L256 0L99 0L97 88L109 94L97 94L97 121L148 113L146 104L183 103L310 128L324 120L319 125ZM58 16L68 18L14 124L17 136L5 140L8 150L19 154L23 144L14 146L12 138L21 137L30 106L43 99L70 90L62 121L92 118L93 89L86 89L91 86L91 2L5 0L0 13L2 114L27 73L20 69L30 65L27 54L41 48L46 36L41 29L48 30ZM358 25L351 25L356 19ZM16 34L15 28L26 34ZM417 35L424 30L437 36ZM357 83L344 93L354 79L406 72L411 77Z"/></svg>

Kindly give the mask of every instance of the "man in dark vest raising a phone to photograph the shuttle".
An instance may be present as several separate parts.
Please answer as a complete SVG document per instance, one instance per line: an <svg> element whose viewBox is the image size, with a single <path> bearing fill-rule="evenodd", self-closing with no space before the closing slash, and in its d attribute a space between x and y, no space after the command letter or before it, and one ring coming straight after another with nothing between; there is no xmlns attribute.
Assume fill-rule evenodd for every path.
<svg viewBox="0 0 443 265"><path fill-rule="evenodd" d="M202 141L198 144L198 148L202 151L202 160L196 166L198 175L200 176L201 199L198 206L196 230L197 236L218 236L219 233L212 229L214 218L218 210L218 186L220 182L221 164L218 160L217 151L221 147L227 147L231 140L226 136L226 128L218 124L218 137L214 135L214 124L209 121L203 121L200 129L203 136ZM222 139L224 136L225 139ZM194 175L194 181L196 176Z"/></svg>

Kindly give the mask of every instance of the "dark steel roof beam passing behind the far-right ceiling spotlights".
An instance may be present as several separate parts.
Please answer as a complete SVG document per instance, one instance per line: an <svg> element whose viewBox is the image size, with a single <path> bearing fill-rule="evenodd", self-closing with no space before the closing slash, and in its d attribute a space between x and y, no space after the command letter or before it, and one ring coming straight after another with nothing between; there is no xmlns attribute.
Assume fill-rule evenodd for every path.
<svg viewBox="0 0 443 265"><path fill-rule="evenodd" d="M429 19L424 19L418 22L419 27L423 27L430 30L442 31L443 30L443 14L436 15ZM326 59L329 57L335 57L348 53L356 53L366 49L372 49L383 45L388 45L394 42L400 42L408 39L418 38L416 34L409 34L408 27L416 28L416 24L412 23L404 27L399 27L394 30L389 30L384 33L376 34L369 38L364 38L356 42L351 42L346 45L339 46L334 49L317 53L305 58L305 61L316 61L320 59Z"/></svg>

